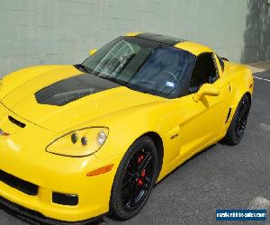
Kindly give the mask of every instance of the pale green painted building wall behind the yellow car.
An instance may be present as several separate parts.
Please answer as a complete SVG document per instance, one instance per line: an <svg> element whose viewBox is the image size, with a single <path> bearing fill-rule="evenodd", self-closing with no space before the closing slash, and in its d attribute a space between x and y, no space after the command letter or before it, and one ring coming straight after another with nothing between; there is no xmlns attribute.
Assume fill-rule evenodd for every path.
<svg viewBox="0 0 270 225"><path fill-rule="evenodd" d="M238 62L270 59L267 0L0 0L0 76L75 64L128 31L211 46Z"/></svg>

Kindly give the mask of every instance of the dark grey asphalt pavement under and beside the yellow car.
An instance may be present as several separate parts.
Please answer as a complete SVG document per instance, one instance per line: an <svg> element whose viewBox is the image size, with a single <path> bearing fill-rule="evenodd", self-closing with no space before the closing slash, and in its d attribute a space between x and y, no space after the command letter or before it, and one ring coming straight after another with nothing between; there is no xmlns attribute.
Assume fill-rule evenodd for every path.
<svg viewBox="0 0 270 225"><path fill-rule="evenodd" d="M135 218L115 221L105 217L100 224L222 224L215 219L217 209L269 205L270 71L254 76L247 129L238 146L216 144L202 151L157 184ZM268 217L269 211L270 207ZM0 224L28 222L0 207ZM270 224L269 219L263 224Z"/></svg>

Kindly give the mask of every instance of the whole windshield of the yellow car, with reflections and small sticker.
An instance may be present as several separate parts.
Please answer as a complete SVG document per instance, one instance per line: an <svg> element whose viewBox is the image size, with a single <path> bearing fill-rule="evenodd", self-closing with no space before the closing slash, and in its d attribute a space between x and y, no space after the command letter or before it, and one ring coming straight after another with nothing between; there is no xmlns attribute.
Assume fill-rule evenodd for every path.
<svg viewBox="0 0 270 225"><path fill-rule="evenodd" d="M135 37L120 37L106 44L82 67L148 94L174 98L181 94L183 77L189 76L195 57L182 49Z"/></svg>

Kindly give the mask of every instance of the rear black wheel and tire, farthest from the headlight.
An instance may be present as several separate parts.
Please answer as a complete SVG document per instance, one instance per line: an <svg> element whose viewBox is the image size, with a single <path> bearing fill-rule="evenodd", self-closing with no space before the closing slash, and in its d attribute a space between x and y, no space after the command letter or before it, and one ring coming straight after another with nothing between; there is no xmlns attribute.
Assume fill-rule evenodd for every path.
<svg viewBox="0 0 270 225"><path fill-rule="evenodd" d="M230 121L229 129L227 130L225 138L222 139L222 143L230 146L238 145L246 129L249 109L249 99L247 94L245 94L238 103L238 108Z"/></svg>

